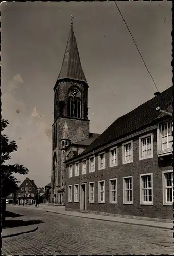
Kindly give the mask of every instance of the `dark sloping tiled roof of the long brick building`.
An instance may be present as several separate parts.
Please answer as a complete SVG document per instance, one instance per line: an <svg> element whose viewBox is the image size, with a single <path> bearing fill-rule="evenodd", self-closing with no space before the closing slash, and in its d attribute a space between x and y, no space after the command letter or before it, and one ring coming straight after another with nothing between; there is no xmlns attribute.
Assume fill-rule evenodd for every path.
<svg viewBox="0 0 174 256"><path fill-rule="evenodd" d="M100 136L98 136L98 138L94 140L80 155L85 155L96 148L107 145L119 138L138 131L145 125L150 124L161 115L161 113L156 111L156 108L160 106L161 109L166 110L172 104L172 101L173 89L172 87L169 87L160 95L155 96L128 114L116 119L116 121L113 122ZM80 155L78 155L78 157Z"/></svg>

